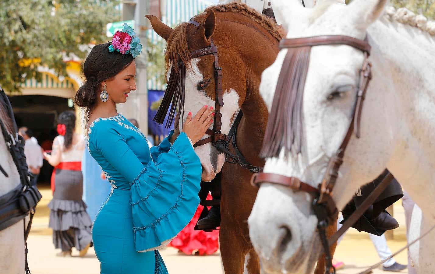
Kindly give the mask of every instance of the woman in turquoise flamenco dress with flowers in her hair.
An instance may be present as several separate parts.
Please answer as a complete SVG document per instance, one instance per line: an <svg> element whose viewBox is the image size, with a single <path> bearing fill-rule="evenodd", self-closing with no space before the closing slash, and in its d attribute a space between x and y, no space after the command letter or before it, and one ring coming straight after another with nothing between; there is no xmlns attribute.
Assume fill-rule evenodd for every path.
<svg viewBox="0 0 435 274"><path fill-rule="evenodd" d="M211 125L212 108L189 113L183 132L149 149L141 130L117 113L136 90L139 39L124 25L111 43L95 46L84 63L86 82L75 102L84 107L87 147L112 189L94 222L101 274L166 274L158 252L191 220L199 204L201 164L192 142ZM144 106L145 107L145 106Z"/></svg>

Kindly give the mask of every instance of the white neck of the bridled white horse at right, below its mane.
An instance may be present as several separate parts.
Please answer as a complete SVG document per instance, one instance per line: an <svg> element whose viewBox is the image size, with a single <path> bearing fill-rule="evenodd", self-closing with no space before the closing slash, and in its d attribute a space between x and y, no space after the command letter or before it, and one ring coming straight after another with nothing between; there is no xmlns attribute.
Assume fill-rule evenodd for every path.
<svg viewBox="0 0 435 274"><path fill-rule="evenodd" d="M384 109L390 122L384 134L394 135L387 168L413 197L430 205L435 199L435 39L385 17L368 28L368 36L373 64L368 92L376 94L372 104Z"/></svg>

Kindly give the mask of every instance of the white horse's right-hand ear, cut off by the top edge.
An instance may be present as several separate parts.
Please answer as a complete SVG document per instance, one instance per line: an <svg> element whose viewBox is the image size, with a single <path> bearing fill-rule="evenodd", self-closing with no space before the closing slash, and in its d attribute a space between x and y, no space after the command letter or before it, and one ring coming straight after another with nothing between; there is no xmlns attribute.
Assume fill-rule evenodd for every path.
<svg viewBox="0 0 435 274"><path fill-rule="evenodd" d="M358 23L357 27L365 29L381 16L387 3L388 0L354 0L348 5L348 8L355 16Z"/></svg>

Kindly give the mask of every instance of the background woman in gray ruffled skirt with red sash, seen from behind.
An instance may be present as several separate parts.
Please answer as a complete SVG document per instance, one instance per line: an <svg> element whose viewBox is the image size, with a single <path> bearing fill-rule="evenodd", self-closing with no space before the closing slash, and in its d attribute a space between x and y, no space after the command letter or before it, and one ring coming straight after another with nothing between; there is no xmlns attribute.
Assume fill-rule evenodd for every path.
<svg viewBox="0 0 435 274"><path fill-rule="evenodd" d="M83 257L92 244L92 221L86 212L82 200L83 175L81 158L83 156L84 137L75 133L76 116L65 111L59 115L57 132L51 155L44 154L54 166L51 177L53 200L50 201L50 223L53 229L53 243L60 248L59 256L71 255L75 247Z"/></svg>

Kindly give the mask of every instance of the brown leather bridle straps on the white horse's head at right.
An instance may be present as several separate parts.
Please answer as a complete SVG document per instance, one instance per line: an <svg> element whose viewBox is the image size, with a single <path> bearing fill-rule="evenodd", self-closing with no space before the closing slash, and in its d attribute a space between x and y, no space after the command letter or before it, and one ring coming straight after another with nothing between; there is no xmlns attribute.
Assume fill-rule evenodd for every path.
<svg viewBox="0 0 435 274"><path fill-rule="evenodd" d="M313 196L313 210L315 212L315 215L318 217L318 231L325 250L327 262L329 265L327 266L326 271L327 273L329 273L329 269L330 267L332 267L332 264L331 264L331 256L329 256L328 246L331 244L331 242L328 243L328 240L326 239L325 229L334 218L335 219L337 218L338 210L334 200L332 199L332 193L335 186L335 182L338 177L338 170L341 164L343 164L343 157L345 154L346 147L348 146L348 143L351 139L353 132L355 132L355 136L357 138L360 137L360 120L361 120L362 104L365 99L365 93L367 91L368 84L371 80L371 63L368 60L371 48L367 42L367 39L359 40L354 37L348 37L343 35L325 35L325 36L315 36L315 37L283 39L280 42L281 49L295 48L295 47L310 47L311 49L311 47L320 46L320 45L348 45L358 50L361 50L364 53L364 62L362 64L360 70L360 76L359 76L357 100L355 103L355 107L353 109L352 120L348 127L348 131L343 141L341 142L341 145L338 148L337 152L329 161L328 169L321 181L321 184L319 184L318 188L312 187L309 184L301 182L301 180L296 177L287 177L284 175L271 174L271 173L254 174L251 178L251 184L258 187L262 183L281 184L286 187L290 187L292 190L307 192ZM291 54L290 51L287 54ZM280 81L282 82L283 80L284 79L282 79L282 74L280 74L280 78L278 78L277 87L283 86L282 84L280 84ZM275 93L275 96L276 95L277 93ZM271 121L269 121L269 123L270 122ZM361 214L365 210L366 209L362 211L361 209L360 210L362 211ZM337 235L334 236L335 237L333 238L335 238L336 241L336 238L338 238L338 236Z"/></svg>

